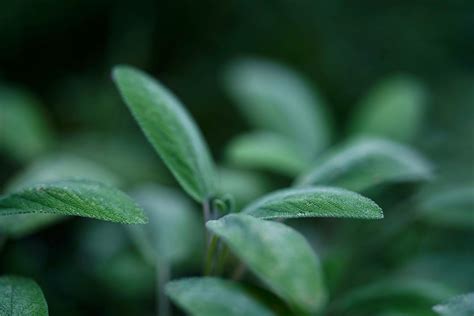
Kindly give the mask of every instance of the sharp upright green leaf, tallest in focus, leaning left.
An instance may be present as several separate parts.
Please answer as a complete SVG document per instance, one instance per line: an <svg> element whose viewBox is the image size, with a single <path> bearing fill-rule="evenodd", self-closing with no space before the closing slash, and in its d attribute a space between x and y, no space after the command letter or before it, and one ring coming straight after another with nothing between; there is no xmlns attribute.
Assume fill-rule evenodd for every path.
<svg viewBox="0 0 474 316"><path fill-rule="evenodd" d="M114 68L122 98L184 190L197 201L215 194L215 170L201 132L158 81L128 66Z"/></svg>

